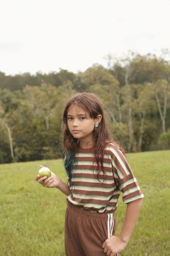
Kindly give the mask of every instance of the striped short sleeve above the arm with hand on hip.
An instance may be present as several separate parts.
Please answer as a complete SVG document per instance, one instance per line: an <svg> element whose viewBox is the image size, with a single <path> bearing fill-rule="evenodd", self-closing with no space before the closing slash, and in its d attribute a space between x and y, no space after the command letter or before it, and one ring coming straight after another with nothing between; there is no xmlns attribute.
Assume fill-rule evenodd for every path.
<svg viewBox="0 0 170 256"><path fill-rule="evenodd" d="M110 150L114 179L123 194L124 204L144 197L124 154L116 146Z"/></svg>

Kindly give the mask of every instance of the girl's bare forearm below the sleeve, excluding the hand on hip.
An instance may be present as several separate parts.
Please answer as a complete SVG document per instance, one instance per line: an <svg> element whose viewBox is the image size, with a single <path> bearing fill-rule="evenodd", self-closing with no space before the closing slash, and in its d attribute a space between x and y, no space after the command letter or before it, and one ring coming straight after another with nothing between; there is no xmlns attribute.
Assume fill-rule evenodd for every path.
<svg viewBox="0 0 170 256"><path fill-rule="evenodd" d="M131 233L133 232L141 207L142 199L131 201L127 204L125 221L119 236L120 239L126 243L128 243Z"/></svg>

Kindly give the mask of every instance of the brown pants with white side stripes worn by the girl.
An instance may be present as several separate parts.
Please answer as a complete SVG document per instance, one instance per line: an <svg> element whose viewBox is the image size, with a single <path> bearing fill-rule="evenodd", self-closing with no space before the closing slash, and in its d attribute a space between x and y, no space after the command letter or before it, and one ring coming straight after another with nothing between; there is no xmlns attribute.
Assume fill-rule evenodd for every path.
<svg viewBox="0 0 170 256"><path fill-rule="evenodd" d="M116 231L113 213L94 213L67 204L66 256L106 256L102 245ZM119 254L115 254L118 256Z"/></svg>

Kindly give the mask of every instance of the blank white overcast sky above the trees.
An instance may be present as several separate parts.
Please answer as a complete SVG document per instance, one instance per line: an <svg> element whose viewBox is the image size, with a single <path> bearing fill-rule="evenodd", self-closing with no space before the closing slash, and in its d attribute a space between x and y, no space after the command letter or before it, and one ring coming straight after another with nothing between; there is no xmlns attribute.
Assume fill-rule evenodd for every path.
<svg viewBox="0 0 170 256"><path fill-rule="evenodd" d="M0 0L0 71L107 67L108 54L170 48L170 0Z"/></svg>

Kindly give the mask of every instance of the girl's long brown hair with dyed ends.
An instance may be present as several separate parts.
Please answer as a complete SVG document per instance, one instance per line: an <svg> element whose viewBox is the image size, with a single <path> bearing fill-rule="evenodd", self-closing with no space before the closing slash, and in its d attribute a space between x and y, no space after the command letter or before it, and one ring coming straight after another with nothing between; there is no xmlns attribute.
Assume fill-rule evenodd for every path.
<svg viewBox="0 0 170 256"><path fill-rule="evenodd" d="M67 126L67 112L69 107L72 104L76 104L80 108L84 109L89 113L91 118L96 118L97 115L101 114L102 119L99 123L99 126L94 127L93 135L94 135L94 163L97 163L97 166L93 166L92 168L98 170L98 175L100 171L103 171L104 179L105 179L105 171L103 168L103 159L104 159L104 149L107 143L114 143L120 150L124 153L124 148L118 142L113 139L111 132L109 131L107 121L105 120L104 109L101 105L99 98L96 97L93 93L78 93L75 96L71 97L65 106L65 110L63 112L63 147L64 154L63 160L67 172L67 176L69 177L69 182L71 184L71 170L75 160L75 154L78 152L79 141L74 138L73 135L69 131L69 127Z"/></svg>

